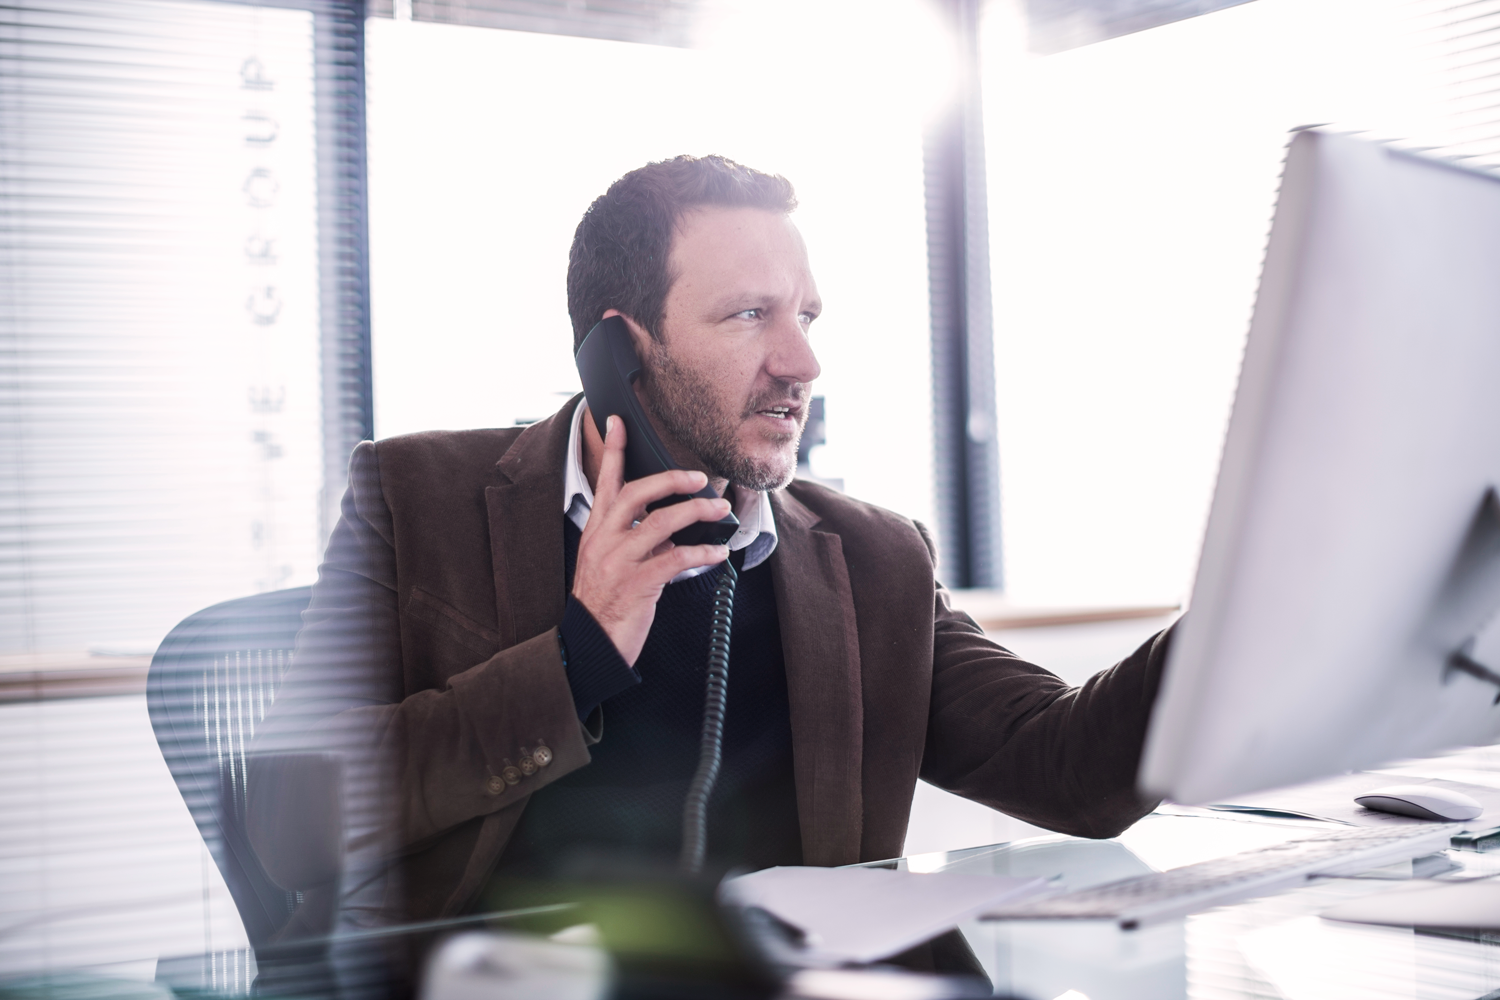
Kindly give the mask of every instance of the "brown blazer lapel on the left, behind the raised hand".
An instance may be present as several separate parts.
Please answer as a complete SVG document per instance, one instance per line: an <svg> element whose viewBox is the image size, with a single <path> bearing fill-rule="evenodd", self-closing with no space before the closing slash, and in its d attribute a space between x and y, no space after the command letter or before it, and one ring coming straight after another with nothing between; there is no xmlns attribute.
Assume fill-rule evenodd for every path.
<svg viewBox="0 0 1500 1000"><path fill-rule="evenodd" d="M516 438L495 465L502 483L484 489L495 612L501 642L513 646L562 621L562 462L574 396Z"/></svg>

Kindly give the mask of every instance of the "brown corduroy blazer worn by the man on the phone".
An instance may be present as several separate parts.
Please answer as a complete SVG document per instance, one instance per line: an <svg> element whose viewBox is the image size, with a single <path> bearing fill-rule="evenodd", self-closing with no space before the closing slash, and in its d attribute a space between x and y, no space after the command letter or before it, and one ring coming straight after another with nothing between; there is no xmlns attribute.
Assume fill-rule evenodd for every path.
<svg viewBox="0 0 1500 1000"><path fill-rule="evenodd" d="M402 919L471 906L528 798L609 739L608 705L579 724L558 648L578 405L351 459L273 715L357 730L390 762ZM1149 811L1134 778L1168 633L1070 688L950 606L920 525L810 483L771 504L806 864L900 855L918 777L1082 837ZM506 783L538 745L550 763Z"/></svg>

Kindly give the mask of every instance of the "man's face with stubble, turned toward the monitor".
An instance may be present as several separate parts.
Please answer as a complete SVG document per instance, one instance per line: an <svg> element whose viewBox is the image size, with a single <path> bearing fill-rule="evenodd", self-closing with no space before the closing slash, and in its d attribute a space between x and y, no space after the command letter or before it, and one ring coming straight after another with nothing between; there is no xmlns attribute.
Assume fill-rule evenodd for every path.
<svg viewBox="0 0 1500 1000"><path fill-rule="evenodd" d="M747 489L786 486L820 369L807 328L822 303L792 220L698 208L678 223L662 337L634 324L639 393L674 457Z"/></svg>

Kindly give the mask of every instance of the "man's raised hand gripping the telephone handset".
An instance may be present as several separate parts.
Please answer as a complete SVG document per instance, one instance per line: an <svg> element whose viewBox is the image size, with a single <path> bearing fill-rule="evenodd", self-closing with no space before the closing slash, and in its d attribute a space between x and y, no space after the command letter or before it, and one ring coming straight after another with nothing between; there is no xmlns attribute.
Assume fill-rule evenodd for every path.
<svg viewBox="0 0 1500 1000"><path fill-rule="evenodd" d="M632 483L626 474L626 426L610 417L594 505L578 543L573 597L594 616L621 658L634 666L656 619L662 588L684 570L717 565L728 546L674 546L672 534L694 520L722 520L729 501L693 498L650 514L646 504L674 493L694 493L708 477L672 469Z"/></svg>

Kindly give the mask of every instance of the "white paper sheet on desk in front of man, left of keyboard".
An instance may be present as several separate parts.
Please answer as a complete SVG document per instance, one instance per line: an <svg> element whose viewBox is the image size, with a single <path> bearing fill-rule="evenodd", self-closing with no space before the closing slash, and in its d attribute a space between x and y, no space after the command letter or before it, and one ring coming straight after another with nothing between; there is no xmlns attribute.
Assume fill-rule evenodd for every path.
<svg viewBox="0 0 1500 1000"><path fill-rule="evenodd" d="M872 963L1044 885L1042 879L890 868L766 868L726 882L723 895L802 931L810 955Z"/></svg>

